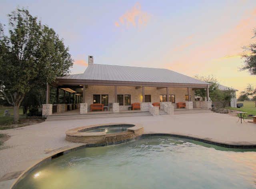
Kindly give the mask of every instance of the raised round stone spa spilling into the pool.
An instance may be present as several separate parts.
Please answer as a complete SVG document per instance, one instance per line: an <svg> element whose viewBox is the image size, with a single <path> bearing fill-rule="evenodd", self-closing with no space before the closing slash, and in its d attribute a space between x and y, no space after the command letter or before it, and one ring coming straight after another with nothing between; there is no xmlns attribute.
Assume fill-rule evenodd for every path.
<svg viewBox="0 0 256 189"><path fill-rule="evenodd" d="M66 140L91 146L104 146L134 140L143 132L141 124L98 124L70 129L66 132Z"/></svg>

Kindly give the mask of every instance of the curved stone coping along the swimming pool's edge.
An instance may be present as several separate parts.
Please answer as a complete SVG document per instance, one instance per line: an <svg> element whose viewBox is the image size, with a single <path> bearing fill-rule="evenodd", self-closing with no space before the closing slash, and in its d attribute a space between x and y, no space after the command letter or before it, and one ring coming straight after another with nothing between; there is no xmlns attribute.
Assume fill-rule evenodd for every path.
<svg viewBox="0 0 256 189"><path fill-rule="evenodd" d="M148 136L172 136L172 137L179 137L179 138L187 138L187 139L192 139L200 142L204 142L206 144L214 144L216 146L221 146L221 147L226 147L226 148L240 148L240 149L252 149L256 148L256 144L238 144L238 143L230 143L228 141L218 141L214 140L212 138L202 138L200 136L195 136L192 134L182 134L182 133L168 133L168 132L144 132L140 137L148 137ZM137 137L139 138L139 137ZM76 147L70 147L66 148L65 150L58 150L56 153L47 156L45 158L40 159L30 167L28 167L26 170L24 170L20 176L12 183L10 189L13 189L13 187L18 184L18 181L27 173L30 173L33 171L35 168L37 168L40 164L45 163L46 161L51 161L54 158L58 158L59 156L62 156L64 154L67 154L69 152L79 150L82 148L91 148L91 147L100 147L100 146L106 146L106 144L81 144Z"/></svg>

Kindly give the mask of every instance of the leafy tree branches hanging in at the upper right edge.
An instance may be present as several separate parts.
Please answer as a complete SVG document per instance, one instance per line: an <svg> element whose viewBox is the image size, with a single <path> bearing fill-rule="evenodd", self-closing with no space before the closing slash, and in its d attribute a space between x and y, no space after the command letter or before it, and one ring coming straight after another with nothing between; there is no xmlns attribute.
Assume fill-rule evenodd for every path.
<svg viewBox="0 0 256 189"><path fill-rule="evenodd" d="M253 30L254 37L256 37L256 29ZM242 55L244 59L244 66L242 70L248 70L251 75L256 75L256 43L250 44L248 47L243 47L245 51L250 51L245 55Z"/></svg>

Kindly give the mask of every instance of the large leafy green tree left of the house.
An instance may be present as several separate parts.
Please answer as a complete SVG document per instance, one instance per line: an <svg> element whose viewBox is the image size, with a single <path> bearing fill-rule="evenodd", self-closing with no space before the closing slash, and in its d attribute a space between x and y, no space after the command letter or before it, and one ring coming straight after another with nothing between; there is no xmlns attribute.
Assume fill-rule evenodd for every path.
<svg viewBox="0 0 256 189"><path fill-rule="evenodd" d="M14 106L14 122L26 94L69 73L73 59L63 39L28 10L8 15L9 35L0 24L0 92Z"/></svg>

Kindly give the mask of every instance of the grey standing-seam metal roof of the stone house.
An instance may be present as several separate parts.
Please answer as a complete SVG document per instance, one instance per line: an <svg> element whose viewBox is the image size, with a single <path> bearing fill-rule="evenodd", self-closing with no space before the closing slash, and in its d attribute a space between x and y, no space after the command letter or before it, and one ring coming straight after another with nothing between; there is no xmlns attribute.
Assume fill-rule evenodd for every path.
<svg viewBox="0 0 256 189"><path fill-rule="evenodd" d="M134 83L143 84L148 83L154 85L164 84L193 84L192 86L207 86L209 83L200 81L198 79L171 71L168 69L159 68L146 68L146 67L131 67L120 65L102 65L93 64L89 65L84 73L67 75L64 77L58 77L57 81L70 81L75 80L84 81L85 84L91 83Z"/></svg>

